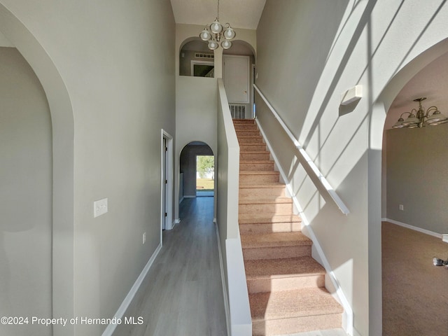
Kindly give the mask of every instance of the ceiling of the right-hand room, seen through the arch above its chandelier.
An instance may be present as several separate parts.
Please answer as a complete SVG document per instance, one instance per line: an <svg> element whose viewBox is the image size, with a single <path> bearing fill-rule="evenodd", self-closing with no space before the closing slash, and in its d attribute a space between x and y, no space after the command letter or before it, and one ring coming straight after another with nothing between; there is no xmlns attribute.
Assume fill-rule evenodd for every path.
<svg viewBox="0 0 448 336"><path fill-rule="evenodd" d="M448 53L438 57L426 67L421 69L409 82L402 88L398 96L394 99L391 108L386 116L386 125L384 129L392 128L400 118L400 114L410 112L412 109L419 109L419 103L413 102L414 99L426 97L421 102L423 108L437 106L440 112L448 116ZM407 118L405 114L404 119Z"/></svg>

